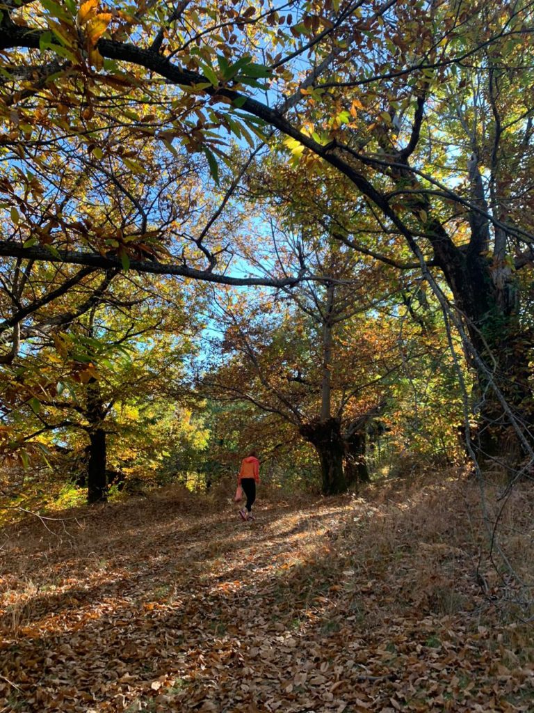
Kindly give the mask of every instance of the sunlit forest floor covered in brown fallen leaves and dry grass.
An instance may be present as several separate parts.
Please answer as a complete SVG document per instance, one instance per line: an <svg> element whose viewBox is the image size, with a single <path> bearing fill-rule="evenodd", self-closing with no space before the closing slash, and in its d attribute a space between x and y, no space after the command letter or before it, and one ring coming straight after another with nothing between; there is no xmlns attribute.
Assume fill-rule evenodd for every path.
<svg viewBox="0 0 534 713"><path fill-rule="evenodd" d="M260 491L253 523L173 488L28 516L1 533L0 712L533 712L532 629L501 606L478 498L441 476ZM532 490L507 508L501 545L531 566Z"/></svg>

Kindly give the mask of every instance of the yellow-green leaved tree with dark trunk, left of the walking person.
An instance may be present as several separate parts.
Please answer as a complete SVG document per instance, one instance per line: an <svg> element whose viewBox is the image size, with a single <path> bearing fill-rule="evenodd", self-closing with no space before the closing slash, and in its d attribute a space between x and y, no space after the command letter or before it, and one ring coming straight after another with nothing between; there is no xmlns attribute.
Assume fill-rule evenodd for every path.
<svg viewBox="0 0 534 713"><path fill-rule="evenodd" d="M158 404L167 401L167 413L159 419L167 417L169 401L170 410L176 409L182 364L193 350L197 327L184 313L185 295L175 288L171 294L161 281L158 287L155 298L139 279L122 278L112 292L93 299L88 311L69 313L68 322L50 314L48 304L48 317L33 314L33 326L23 328L21 354L4 366L11 451L18 451L27 466L28 453L38 446L70 447L70 465L77 456L85 464L90 502L106 499L110 456L126 475L132 452L141 451L152 434L157 461L150 426L158 419ZM163 299L166 292L168 301ZM194 304L196 298L189 292L187 299ZM137 441L133 448L127 446L128 438ZM130 456L120 455L125 451Z"/></svg>

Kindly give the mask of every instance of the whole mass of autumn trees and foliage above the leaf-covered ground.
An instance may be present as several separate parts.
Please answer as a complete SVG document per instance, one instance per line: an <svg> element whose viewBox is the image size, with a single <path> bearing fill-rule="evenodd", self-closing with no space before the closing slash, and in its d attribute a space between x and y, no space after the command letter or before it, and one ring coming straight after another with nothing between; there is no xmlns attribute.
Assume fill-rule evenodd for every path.
<svg viewBox="0 0 534 713"><path fill-rule="evenodd" d="M528 2L0 8L6 496L530 476Z"/></svg>

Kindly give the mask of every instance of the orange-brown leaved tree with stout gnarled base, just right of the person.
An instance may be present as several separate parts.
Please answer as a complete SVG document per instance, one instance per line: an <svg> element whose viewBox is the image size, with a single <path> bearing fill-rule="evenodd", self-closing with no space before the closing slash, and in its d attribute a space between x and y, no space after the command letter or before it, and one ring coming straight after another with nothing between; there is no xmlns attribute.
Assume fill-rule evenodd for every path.
<svg viewBox="0 0 534 713"><path fill-rule="evenodd" d="M201 384L211 398L248 402L293 424L315 448L323 493L333 494L369 479L367 425L402 360L383 309L384 275L371 277L369 265L323 236L305 249L300 260L321 279L274 302L219 301L224 337Z"/></svg>

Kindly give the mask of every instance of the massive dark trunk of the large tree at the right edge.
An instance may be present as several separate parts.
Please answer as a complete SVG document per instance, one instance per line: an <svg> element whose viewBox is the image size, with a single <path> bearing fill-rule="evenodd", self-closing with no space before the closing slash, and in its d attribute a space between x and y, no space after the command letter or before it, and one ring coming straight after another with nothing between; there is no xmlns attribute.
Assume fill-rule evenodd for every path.
<svg viewBox="0 0 534 713"><path fill-rule="evenodd" d="M476 241L474 242L476 246ZM511 419L499 403L491 381L506 398L518 422L533 423L533 393L528 364L533 348L530 334L520 327L518 286L513 272L501 270L487 255L466 252L446 241L434 242L436 262L444 272L456 305L466 317L468 336L484 366L471 354L468 363L477 374L477 428L472 445L481 463L495 461L517 468L525 448ZM525 436L532 439L525 431Z"/></svg>

